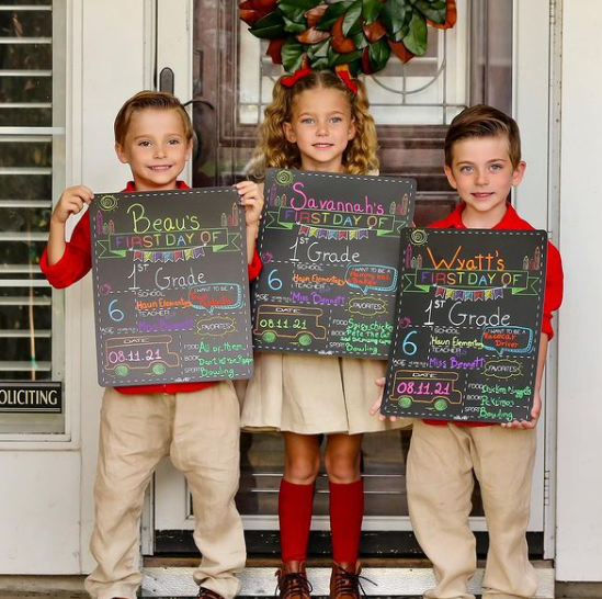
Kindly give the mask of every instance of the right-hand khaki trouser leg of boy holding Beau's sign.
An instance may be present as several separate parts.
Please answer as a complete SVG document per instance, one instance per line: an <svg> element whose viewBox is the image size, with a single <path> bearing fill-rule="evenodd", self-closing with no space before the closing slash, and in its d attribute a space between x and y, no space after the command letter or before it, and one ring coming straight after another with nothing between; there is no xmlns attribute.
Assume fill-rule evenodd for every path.
<svg viewBox="0 0 602 599"><path fill-rule="evenodd" d="M235 505L238 490L240 406L231 382L178 394L171 461L192 494L194 542L203 555L194 580L226 599L240 590L235 576L247 552Z"/></svg>

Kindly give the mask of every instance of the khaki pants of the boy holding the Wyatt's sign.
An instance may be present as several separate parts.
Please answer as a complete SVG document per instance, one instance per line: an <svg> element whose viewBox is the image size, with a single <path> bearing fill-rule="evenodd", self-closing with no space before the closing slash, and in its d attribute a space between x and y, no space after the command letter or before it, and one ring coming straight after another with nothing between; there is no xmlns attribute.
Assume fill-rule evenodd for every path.
<svg viewBox="0 0 602 599"><path fill-rule="evenodd" d="M526 527L535 460L535 430L413 425L408 455L410 519L433 563L430 599L474 599L476 542L468 527L473 470L479 481L489 530L484 597L532 597L537 589L529 562Z"/></svg>

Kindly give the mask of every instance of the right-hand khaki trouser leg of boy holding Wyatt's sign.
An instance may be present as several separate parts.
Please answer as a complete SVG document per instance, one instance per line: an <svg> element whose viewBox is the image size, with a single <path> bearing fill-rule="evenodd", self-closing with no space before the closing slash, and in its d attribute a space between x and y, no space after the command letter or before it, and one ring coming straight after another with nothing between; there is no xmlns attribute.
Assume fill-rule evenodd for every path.
<svg viewBox="0 0 602 599"><path fill-rule="evenodd" d="M502 427L474 429L475 472L489 530L484 596L532 597L537 590L529 562L526 527L536 432Z"/></svg>

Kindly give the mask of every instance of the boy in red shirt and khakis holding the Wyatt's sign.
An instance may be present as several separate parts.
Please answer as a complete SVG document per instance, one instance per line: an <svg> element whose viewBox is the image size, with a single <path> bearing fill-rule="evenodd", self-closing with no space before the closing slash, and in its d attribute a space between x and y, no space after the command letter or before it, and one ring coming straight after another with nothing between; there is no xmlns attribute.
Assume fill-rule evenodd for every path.
<svg viewBox="0 0 602 599"><path fill-rule="evenodd" d="M519 127L487 105L466 109L445 137L445 174L462 202L433 228L532 229L508 203L526 165ZM532 597L537 579L529 562L526 527L535 461L539 387L554 335L552 313L563 300L563 265L548 242L542 337L531 421L504 425L414 420L407 463L407 491L416 536L433 563L436 587L429 599L474 599L468 580L476 570L475 536L468 525L473 472L477 476L489 551L484 597ZM384 385L385 380L377 382ZM372 408L376 414L382 397ZM380 418L384 418L380 416Z"/></svg>

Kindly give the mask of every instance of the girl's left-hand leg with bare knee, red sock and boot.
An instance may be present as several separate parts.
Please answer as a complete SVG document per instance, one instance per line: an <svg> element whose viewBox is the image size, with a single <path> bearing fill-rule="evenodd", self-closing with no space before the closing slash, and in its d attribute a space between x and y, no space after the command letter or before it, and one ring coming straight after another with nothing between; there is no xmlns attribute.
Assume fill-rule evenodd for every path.
<svg viewBox="0 0 602 599"><path fill-rule="evenodd" d="M284 477L280 486L279 517L282 567L280 597L309 599L311 586L305 558L311 524L314 487L320 470L320 443L315 434L285 432Z"/></svg>

